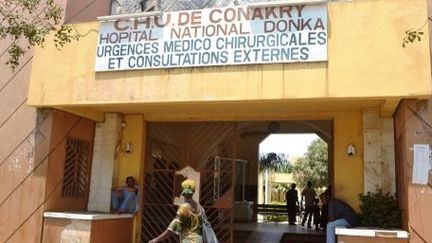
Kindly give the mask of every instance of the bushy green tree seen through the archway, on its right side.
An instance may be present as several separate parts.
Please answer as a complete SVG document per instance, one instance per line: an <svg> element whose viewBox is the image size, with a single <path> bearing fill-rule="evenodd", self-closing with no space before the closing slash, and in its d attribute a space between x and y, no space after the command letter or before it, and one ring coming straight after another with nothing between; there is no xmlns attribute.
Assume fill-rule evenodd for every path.
<svg viewBox="0 0 432 243"><path fill-rule="evenodd" d="M293 165L293 177L299 187L306 187L308 181L315 187L324 187L328 180L328 149L327 143L318 138L308 146L303 157Z"/></svg>

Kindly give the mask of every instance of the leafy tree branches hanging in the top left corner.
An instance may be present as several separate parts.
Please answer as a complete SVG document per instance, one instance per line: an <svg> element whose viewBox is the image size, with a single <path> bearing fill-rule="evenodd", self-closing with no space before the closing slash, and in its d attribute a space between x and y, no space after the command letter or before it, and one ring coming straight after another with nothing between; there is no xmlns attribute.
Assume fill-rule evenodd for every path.
<svg viewBox="0 0 432 243"><path fill-rule="evenodd" d="M6 65L13 71L20 58L35 45L43 46L46 36L55 33L54 44L63 47L78 36L71 26L60 25L63 9L54 0L7 0L0 3L0 41L10 40Z"/></svg>

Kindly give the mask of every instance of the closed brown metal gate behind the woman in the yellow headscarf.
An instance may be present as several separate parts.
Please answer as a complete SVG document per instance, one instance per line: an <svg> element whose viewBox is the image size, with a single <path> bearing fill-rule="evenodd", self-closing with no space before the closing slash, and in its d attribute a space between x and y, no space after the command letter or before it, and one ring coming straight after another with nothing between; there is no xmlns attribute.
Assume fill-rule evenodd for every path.
<svg viewBox="0 0 432 243"><path fill-rule="evenodd" d="M144 176L142 242L162 233L175 217L174 197L186 166L200 172L200 204L219 239L232 242L235 130L232 122L151 123ZM177 237L166 242L177 242Z"/></svg>

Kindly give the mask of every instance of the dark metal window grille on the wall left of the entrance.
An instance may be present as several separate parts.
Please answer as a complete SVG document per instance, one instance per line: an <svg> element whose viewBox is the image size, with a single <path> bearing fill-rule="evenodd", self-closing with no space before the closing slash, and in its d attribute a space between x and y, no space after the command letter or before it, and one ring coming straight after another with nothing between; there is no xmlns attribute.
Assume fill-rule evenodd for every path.
<svg viewBox="0 0 432 243"><path fill-rule="evenodd" d="M90 141L72 137L66 139L63 196L82 197L86 195L90 173L90 147Z"/></svg>

